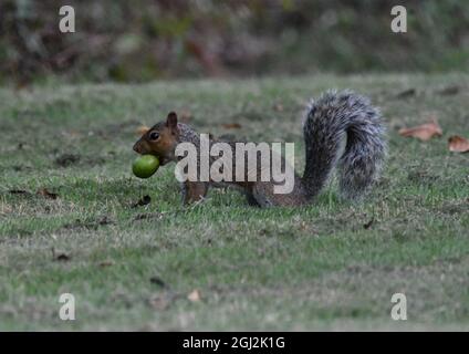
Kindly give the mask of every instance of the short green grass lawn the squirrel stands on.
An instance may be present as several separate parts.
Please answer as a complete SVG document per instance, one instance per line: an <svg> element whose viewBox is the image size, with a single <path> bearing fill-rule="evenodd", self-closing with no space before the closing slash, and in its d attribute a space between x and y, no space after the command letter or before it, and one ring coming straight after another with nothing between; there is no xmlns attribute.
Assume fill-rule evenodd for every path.
<svg viewBox="0 0 469 354"><path fill-rule="evenodd" d="M468 82L322 75L0 88L0 330L468 330L469 155L447 149L450 135L469 137ZM389 127L387 166L359 205L332 183L304 208L252 208L232 190L184 208L171 165L148 180L132 176L136 128L171 110L215 136L294 142L302 170L301 113L330 87L369 95ZM442 137L397 134L431 117ZM134 207L146 195L150 204ZM75 321L59 319L65 292ZM405 322L389 315L397 292Z"/></svg>

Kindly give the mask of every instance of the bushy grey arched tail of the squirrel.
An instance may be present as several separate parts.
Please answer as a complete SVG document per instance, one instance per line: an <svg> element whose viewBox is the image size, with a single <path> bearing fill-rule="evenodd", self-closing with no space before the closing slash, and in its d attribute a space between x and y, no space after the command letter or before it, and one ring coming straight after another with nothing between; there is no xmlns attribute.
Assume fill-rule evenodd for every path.
<svg viewBox="0 0 469 354"><path fill-rule="evenodd" d="M329 91L310 104L304 139L306 166L302 180L310 199L320 192L334 167L341 194L348 199L359 198L376 179L386 155L379 111L368 98L351 91Z"/></svg>

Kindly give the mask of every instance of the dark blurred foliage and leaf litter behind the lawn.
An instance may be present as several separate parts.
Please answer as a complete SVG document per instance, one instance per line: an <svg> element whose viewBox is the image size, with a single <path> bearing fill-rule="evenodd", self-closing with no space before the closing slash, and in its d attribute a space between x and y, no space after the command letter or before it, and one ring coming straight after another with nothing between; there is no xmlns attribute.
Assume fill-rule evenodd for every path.
<svg viewBox="0 0 469 354"><path fill-rule="evenodd" d="M75 9L75 33L59 9ZM404 4L408 32L390 31ZM466 71L466 0L0 0L0 82Z"/></svg>

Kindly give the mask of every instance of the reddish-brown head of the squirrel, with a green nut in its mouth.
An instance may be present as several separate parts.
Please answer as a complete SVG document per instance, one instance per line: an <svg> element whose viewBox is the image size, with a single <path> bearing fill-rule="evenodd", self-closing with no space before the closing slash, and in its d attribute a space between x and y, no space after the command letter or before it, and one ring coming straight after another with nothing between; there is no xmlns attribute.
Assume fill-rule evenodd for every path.
<svg viewBox="0 0 469 354"><path fill-rule="evenodd" d="M175 160L175 149L179 138L177 115L168 114L166 122L155 124L134 145L134 150L140 155L154 155L158 157L159 164L166 165Z"/></svg>

